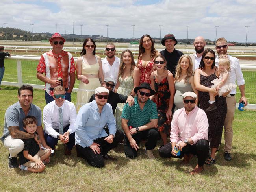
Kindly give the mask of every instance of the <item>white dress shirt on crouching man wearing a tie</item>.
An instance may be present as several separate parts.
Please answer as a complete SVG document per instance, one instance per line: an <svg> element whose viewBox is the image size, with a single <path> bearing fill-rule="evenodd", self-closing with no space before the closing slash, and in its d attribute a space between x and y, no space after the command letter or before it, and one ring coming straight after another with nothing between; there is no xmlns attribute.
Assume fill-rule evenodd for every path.
<svg viewBox="0 0 256 192"><path fill-rule="evenodd" d="M64 101L61 107L58 107L55 100L48 103L43 110L43 123L45 125L44 131L46 134L57 138L59 133L54 129L59 129L59 108L63 113L63 128L69 126L69 133L74 133L76 123L76 107L74 103L67 100Z"/></svg>

